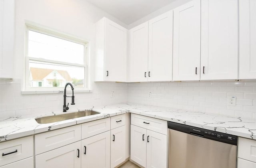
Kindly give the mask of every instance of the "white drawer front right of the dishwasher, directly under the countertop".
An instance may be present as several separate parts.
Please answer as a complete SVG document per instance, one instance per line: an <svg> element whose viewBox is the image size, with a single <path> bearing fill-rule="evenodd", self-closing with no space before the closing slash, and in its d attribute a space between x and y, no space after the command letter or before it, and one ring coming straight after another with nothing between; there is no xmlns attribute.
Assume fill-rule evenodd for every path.
<svg viewBox="0 0 256 168"><path fill-rule="evenodd" d="M256 140L239 137L238 157L256 162Z"/></svg>

